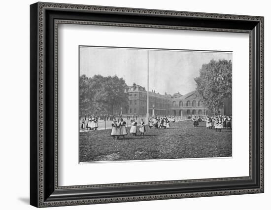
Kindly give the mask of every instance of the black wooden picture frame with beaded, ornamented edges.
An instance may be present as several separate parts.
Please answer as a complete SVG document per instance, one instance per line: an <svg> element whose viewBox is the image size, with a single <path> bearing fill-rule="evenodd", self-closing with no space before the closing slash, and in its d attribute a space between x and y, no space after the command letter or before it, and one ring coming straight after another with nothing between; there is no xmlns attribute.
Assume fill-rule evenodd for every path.
<svg viewBox="0 0 271 210"><path fill-rule="evenodd" d="M249 176L58 186L58 24L248 33ZM30 204L35 207L264 192L264 18L37 2L30 6Z"/></svg>

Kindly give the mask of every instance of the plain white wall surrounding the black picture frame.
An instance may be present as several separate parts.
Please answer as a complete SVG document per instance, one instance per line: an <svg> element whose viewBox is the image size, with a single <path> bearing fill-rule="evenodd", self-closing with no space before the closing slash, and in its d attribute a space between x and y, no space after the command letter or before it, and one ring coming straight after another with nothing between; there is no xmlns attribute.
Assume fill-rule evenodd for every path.
<svg viewBox="0 0 271 210"><path fill-rule="evenodd" d="M52 2L143 7L197 12L265 16L265 193L145 201L59 209L138 210L200 209L246 210L269 209L271 198L271 13L268 0L51 0ZM0 197L1 209L34 209L29 202L29 4L34 0L1 1L0 33ZM241 84L241 81L240 81ZM16 130L10 126L18 125ZM57 209L57 208L52 208ZM51 210L51 209L50 209Z"/></svg>

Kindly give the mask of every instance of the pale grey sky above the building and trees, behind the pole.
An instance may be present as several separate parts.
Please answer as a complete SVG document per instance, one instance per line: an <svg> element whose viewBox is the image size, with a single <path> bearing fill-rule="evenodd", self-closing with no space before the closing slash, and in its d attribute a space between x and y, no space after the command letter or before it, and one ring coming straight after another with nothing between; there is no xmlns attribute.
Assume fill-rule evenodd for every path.
<svg viewBox="0 0 271 210"><path fill-rule="evenodd" d="M135 48L83 47L79 54L79 74L92 77L123 77L127 85L134 82L147 89L149 51L149 91L160 94L180 92L185 95L196 89L195 77L210 60L232 60L232 52L156 50Z"/></svg>

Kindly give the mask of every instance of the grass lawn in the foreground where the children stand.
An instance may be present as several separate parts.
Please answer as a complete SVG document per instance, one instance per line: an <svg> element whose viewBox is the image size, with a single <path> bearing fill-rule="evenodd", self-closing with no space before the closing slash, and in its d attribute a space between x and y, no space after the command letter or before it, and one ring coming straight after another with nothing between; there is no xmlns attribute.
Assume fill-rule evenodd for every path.
<svg viewBox="0 0 271 210"><path fill-rule="evenodd" d="M145 136L111 139L111 130L79 133L79 161L148 160L232 156L232 131L207 130L205 123L192 121L170 124L170 129L149 129Z"/></svg>

